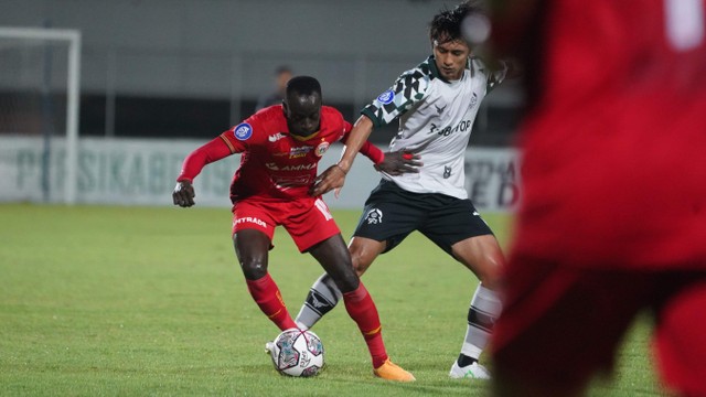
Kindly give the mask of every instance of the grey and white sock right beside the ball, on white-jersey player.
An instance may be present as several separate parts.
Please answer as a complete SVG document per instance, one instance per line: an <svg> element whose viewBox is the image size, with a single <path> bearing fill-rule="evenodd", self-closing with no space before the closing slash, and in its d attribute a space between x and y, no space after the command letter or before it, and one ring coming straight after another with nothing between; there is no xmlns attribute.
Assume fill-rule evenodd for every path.
<svg viewBox="0 0 706 397"><path fill-rule="evenodd" d="M323 273L309 290L307 300L301 305L295 322L301 330L313 326L322 316L330 312L339 303L343 294L333 282L333 279Z"/></svg>

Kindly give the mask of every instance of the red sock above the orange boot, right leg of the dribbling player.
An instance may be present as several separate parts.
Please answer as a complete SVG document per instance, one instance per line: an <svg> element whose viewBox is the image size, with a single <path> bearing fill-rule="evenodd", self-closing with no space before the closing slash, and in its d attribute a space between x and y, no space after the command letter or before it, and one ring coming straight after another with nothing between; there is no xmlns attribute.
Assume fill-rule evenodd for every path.
<svg viewBox="0 0 706 397"><path fill-rule="evenodd" d="M373 358L373 367L379 367L387 360L387 352L383 342L383 326L379 323L373 298L361 282L356 290L343 294L343 302L345 310L351 319L357 323L357 328L367 343L367 350Z"/></svg>

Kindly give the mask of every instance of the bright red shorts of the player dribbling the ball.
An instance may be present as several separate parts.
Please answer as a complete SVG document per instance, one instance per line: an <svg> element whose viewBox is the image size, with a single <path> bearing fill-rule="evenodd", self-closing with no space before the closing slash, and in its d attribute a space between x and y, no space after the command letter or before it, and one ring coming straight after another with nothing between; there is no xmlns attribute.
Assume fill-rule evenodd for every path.
<svg viewBox="0 0 706 397"><path fill-rule="evenodd" d="M233 234L254 228L265 233L271 242L275 227L281 225L301 253L341 233L321 198L285 202L242 200L233 205L232 211Z"/></svg>

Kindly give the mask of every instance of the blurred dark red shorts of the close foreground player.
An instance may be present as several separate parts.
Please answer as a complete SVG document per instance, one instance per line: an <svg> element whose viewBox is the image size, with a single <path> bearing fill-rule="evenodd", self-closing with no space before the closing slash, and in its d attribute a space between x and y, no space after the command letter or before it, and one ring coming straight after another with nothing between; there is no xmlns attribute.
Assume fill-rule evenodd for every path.
<svg viewBox="0 0 706 397"><path fill-rule="evenodd" d="M511 258L492 354L499 382L576 390L612 368L637 314L655 316L661 375L706 395L706 272L568 268Z"/></svg>

